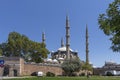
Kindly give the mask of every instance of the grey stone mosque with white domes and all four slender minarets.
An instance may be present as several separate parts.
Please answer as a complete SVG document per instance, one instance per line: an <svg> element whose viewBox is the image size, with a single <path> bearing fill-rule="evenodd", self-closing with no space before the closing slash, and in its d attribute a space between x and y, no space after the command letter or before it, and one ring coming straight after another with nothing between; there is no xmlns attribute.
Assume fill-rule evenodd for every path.
<svg viewBox="0 0 120 80"><path fill-rule="evenodd" d="M42 34L42 42L45 43L45 34ZM88 28L86 25L86 62L89 63L88 54ZM51 59L45 60L45 62L53 63L63 63L66 59L76 59L78 57L78 52L70 48L70 25L69 18L66 16L66 44L64 44L63 38L61 39L61 47L57 51L51 52Z"/></svg>

